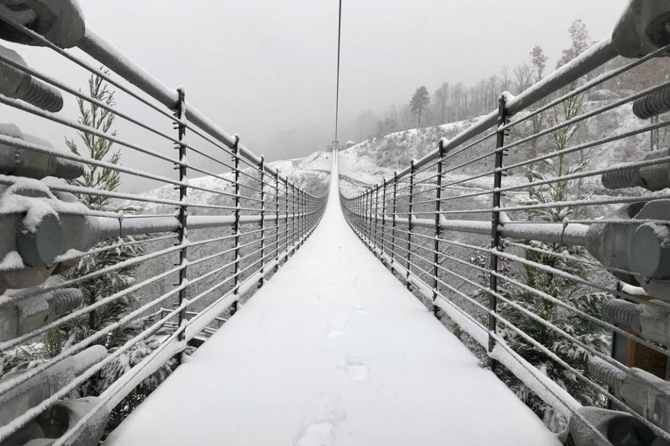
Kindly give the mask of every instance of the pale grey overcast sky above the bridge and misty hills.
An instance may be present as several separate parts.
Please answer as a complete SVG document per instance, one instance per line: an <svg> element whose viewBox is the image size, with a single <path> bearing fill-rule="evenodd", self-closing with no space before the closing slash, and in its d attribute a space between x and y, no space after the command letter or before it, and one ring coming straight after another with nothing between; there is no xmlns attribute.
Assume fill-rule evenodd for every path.
<svg viewBox="0 0 670 446"><path fill-rule="evenodd" d="M568 45L569 24L583 19L600 40L611 34L625 3L343 0L341 115L384 112L408 101L419 85L432 92L442 82L473 84L506 63L527 60L533 45L544 47L553 67ZM226 131L238 132L256 153L271 160L296 157L323 150L333 139L337 0L80 4L90 29L168 86L184 86L189 102ZM13 48L68 84L86 80L44 49ZM16 113L2 121L23 122ZM46 137L56 131L30 128ZM133 139L133 131L124 126L119 133ZM133 156L124 156L124 163Z"/></svg>

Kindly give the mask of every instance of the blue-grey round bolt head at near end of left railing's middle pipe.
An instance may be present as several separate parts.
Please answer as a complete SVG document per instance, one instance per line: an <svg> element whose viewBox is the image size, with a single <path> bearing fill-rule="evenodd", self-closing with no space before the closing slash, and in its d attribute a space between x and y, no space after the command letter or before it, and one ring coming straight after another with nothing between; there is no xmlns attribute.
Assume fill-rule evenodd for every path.
<svg viewBox="0 0 670 446"><path fill-rule="evenodd" d="M61 245L61 223L53 214L44 215L34 230L20 227L16 232L16 247L27 266L52 265Z"/></svg>

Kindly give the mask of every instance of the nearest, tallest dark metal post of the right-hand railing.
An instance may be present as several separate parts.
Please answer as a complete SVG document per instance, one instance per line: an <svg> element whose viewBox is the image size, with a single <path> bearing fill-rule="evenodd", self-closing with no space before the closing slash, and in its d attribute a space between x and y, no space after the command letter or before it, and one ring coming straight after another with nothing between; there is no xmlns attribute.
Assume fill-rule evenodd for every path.
<svg viewBox="0 0 670 446"><path fill-rule="evenodd" d="M507 104L505 102L505 95L500 96L498 102L498 129L502 128L507 123ZM489 275L489 353L493 351L496 346L496 340L493 335L496 334L496 317L493 315L498 312L498 256L494 250L500 249L500 187L502 185L502 160L505 157L505 151L502 149L505 146L505 130L498 130L496 138L496 166L493 174L493 212L491 215L491 256L489 267L491 274ZM491 369L496 369L496 361L491 360Z"/></svg>

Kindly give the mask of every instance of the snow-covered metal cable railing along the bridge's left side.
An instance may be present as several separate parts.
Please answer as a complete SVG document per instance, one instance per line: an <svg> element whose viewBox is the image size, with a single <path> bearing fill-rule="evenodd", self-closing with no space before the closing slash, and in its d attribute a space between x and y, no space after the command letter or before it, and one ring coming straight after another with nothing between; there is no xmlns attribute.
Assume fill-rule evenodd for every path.
<svg viewBox="0 0 670 446"><path fill-rule="evenodd" d="M0 445L97 445L299 249L328 183L255 155L74 0L47 3L0 5L0 37L90 80L84 93L0 45L0 107L22 122L0 125ZM43 129L67 147L24 133ZM140 183L158 188L128 192Z"/></svg>

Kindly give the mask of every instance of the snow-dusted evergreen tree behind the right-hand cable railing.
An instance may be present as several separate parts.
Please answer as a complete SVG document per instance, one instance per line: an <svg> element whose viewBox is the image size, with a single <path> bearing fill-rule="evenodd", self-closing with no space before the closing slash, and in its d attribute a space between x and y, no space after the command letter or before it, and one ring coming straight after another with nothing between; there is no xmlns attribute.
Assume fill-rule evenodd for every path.
<svg viewBox="0 0 670 446"><path fill-rule="evenodd" d="M571 58L578 56L588 47L588 31L583 26L581 20L577 20L569 29L572 38L572 45L563 52L563 58L560 64L567 63ZM574 91L578 82L573 82L565 89ZM583 95L575 95L573 98L564 101L561 105L553 108L549 112L547 119L549 125L554 126L558 123L570 121L581 113L583 108ZM574 139L581 128L581 123L567 125L551 133L551 146L556 151L562 151L574 144ZM538 166L530 166L526 169L526 174L530 181L553 180L548 185L530 187L528 199L521 201L522 205L537 205L546 203L557 203L569 200L586 199L586 193L581 188L581 182L576 185L570 181L561 181L563 176L577 174L586 170L588 165L588 155L579 153L576 159L569 158L567 155L558 155L557 157L544 160ZM531 208L525 210L526 218L529 221L541 222L564 222L566 219L574 218L579 209L574 206L563 206L556 208ZM543 243L529 241L526 243L529 249L526 249L526 260L534 264L542 264L569 273L588 282L594 274L593 267L583 260L590 259L590 255L585 247L563 245L561 243ZM538 269L533 266L524 266L521 282L527 284L537 291L541 291L551 297L563 302L568 307L581 310L586 314L600 318L602 304L612 298L611 295L601 292L593 292L588 286L580 282L558 276L551 271ZM586 320L579 314L569 311L558 305L556 302L539 298L535 293L510 286L503 291L506 298L514 302L519 307L527 309L540 316L544 321L556 328L567 332L583 344L590 346L595 351L608 353L610 348L611 333L604 330L602 326ZM501 302L498 310L500 314L516 327L520 328L539 341L550 351L553 351L565 360L574 369L586 371L588 362L588 352L583 348L576 346L573 341L567 339L563 334L549 328L544 323L539 323L533 319L524 316L518 309L512 305ZM558 385L565 388L569 394L579 399L585 406L602 406L605 403L604 396L586 385L583 380L576 378L574 373L565 369L562 365L551 360L544 353L521 339L518 334L508 328L501 328L500 332L507 344L514 351L521 354L528 362L537 367L544 374L556 381ZM521 383L514 375L501 369L499 374L502 380L516 392L516 394L530 406L535 413L540 415L544 422L554 431L565 427L567 420L556 413L551 406L546 405L533 392Z"/></svg>

